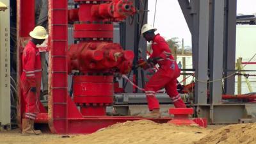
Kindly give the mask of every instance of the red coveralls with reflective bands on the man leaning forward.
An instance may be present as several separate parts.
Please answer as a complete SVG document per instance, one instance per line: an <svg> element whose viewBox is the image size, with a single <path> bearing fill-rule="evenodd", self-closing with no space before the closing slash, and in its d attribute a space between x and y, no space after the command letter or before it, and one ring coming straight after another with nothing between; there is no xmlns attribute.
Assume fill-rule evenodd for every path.
<svg viewBox="0 0 256 144"><path fill-rule="evenodd" d="M145 86L145 93L148 101L148 109L159 109L159 102L156 99L156 92L165 88L167 94L172 99L175 108L186 108L183 100L177 92L176 79L180 76L180 69L174 60L171 50L162 36L157 34L152 41L151 58L160 57L157 60L160 66L156 74L151 77Z"/></svg>

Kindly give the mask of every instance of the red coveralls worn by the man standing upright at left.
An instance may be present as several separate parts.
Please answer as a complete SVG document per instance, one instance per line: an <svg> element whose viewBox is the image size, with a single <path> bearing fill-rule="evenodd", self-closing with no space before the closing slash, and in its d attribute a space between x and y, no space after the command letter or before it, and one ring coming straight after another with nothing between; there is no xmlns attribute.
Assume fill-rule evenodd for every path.
<svg viewBox="0 0 256 144"><path fill-rule="evenodd" d="M26 102L25 118L35 120L39 113L39 96L41 88L41 58L40 52L33 42L29 41L22 54L22 74L20 84L22 86L22 97ZM36 87L36 93L30 88Z"/></svg>

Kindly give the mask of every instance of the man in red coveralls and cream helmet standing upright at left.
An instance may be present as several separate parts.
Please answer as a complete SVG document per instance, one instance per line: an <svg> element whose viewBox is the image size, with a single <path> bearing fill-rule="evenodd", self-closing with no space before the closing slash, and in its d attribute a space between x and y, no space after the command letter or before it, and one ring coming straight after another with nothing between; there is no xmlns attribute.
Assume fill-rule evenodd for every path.
<svg viewBox="0 0 256 144"><path fill-rule="evenodd" d="M36 45L42 44L48 37L44 27L36 26L29 33L31 40L28 42L22 53L22 74L20 84L22 97L26 102L26 109L22 115L22 135L41 134L40 130L34 129L34 122L39 113L39 96L41 87L41 59L40 52Z"/></svg>

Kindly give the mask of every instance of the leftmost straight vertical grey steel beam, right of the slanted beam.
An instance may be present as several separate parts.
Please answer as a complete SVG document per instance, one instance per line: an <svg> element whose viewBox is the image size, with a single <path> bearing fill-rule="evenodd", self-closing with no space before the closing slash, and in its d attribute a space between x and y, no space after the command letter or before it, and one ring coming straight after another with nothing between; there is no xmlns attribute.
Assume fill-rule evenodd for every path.
<svg viewBox="0 0 256 144"><path fill-rule="evenodd" d="M199 1L198 12L198 58L195 67L196 81L195 102L207 104L207 62L209 36L209 0Z"/></svg>

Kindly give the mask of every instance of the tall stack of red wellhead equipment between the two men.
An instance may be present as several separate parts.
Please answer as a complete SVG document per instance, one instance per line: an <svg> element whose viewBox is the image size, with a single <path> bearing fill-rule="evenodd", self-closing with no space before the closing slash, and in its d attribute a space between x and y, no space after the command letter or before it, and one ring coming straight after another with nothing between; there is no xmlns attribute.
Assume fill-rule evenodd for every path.
<svg viewBox="0 0 256 144"><path fill-rule="evenodd" d="M74 76L74 102L83 116L106 115L106 106L113 104L113 74L127 74L134 58L132 51L113 43L113 22L136 11L127 0L75 2L79 8L68 10L68 20L79 44L68 48L67 64L69 73L82 75Z"/></svg>

